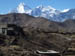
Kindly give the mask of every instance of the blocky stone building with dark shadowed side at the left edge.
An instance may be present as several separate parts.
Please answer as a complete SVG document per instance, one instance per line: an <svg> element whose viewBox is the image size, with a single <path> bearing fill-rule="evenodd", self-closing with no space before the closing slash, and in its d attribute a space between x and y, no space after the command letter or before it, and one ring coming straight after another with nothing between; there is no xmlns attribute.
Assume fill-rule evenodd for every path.
<svg viewBox="0 0 75 56"><path fill-rule="evenodd" d="M0 34L4 35L16 35L19 34L19 29L15 24L3 24L0 23Z"/></svg>

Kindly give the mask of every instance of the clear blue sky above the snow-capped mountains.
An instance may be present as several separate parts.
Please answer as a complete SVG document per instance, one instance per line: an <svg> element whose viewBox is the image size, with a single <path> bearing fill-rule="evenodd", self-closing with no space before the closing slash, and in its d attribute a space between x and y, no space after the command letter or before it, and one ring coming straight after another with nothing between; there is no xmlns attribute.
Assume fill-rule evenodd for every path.
<svg viewBox="0 0 75 56"><path fill-rule="evenodd" d="M38 5L52 6L58 10L75 8L75 0L0 0L0 13L7 13L16 8L18 4L24 2L31 8Z"/></svg>

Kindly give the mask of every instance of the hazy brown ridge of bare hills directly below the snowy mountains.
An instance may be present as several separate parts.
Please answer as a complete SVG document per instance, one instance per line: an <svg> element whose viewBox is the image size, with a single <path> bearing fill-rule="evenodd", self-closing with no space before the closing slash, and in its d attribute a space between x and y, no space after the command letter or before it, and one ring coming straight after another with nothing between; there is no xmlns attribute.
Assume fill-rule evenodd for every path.
<svg viewBox="0 0 75 56"><path fill-rule="evenodd" d="M45 32L75 32L75 20L64 22L49 21L43 17L33 17L28 14L11 13L0 15L0 23L13 23L22 27L44 30ZM70 27L71 25L71 27ZM68 29L69 28L69 29Z"/></svg>

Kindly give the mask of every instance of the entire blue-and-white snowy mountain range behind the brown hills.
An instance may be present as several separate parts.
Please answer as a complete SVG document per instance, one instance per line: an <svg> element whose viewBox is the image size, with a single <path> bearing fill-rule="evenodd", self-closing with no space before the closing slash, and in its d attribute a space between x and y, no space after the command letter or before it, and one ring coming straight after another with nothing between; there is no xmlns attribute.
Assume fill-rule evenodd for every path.
<svg viewBox="0 0 75 56"><path fill-rule="evenodd" d="M67 19L75 19L75 9L65 9L60 11L51 6L42 5L32 9L24 3L20 3L18 7L11 10L10 13L26 13L34 17L44 17L48 20L57 22L63 22Z"/></svg>

